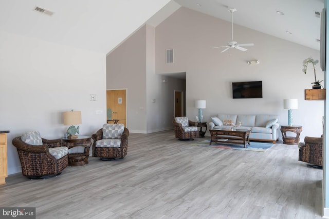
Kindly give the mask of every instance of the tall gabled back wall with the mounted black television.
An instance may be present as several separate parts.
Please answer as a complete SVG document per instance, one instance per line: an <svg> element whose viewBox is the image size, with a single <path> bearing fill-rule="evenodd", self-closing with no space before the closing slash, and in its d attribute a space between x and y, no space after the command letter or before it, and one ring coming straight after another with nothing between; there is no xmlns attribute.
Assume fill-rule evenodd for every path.
<svg viewBox="0 0 329 219"><path fill-rule="evenodd" d="M302 61L319 51L284 41L258 31L234 25L234 41L254 43L242 52L229 49L221 53L215 46L231 41L231 24L187 8L180 8L156 27L156 73L187 72L187 116L194 118L195 99L206 99L204 118L217 113L279 114L287 124L283 99L298 98L294 123L303 126L304 136L322 134L322 101L304 101L304 89L311 89L314 74L302 72ZM174 64L165 64L165 50L174 49ZM259 65L247 61L259 59ZM324 75L316 66L317 78ZM232 99L232 82L263 81L263 98ZM323 84L323 83L322 83Z"/></svg>

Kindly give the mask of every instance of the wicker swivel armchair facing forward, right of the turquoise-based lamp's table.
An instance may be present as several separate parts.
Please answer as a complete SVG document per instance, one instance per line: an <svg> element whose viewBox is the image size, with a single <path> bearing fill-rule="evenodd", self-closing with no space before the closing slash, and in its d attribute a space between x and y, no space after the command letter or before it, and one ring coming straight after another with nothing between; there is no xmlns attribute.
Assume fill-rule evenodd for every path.
<svg viewBox="0 0 329 219"><path fill-rule="evenodd" d="M92 135L93 157L103 161L122 159L127 155L129 130L123 124L104 124Z"/></svg>

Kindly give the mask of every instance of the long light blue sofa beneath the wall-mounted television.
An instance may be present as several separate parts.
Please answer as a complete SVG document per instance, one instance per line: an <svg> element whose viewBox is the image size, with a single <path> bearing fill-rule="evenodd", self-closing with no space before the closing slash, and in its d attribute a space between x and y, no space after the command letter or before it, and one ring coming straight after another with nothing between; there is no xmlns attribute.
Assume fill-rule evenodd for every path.
<svg viewBox="0 0 329 219"><path fill-rule="evenodd" d="M219 123L215 117L220 119ZM279 115L218 114L215 117L212 117L212 122L208 123L210 129L227 128L221 122L231 120L235 125L242 123L239 129L250 129L250 140L269 141L275 144L279 138Z"/></svg>

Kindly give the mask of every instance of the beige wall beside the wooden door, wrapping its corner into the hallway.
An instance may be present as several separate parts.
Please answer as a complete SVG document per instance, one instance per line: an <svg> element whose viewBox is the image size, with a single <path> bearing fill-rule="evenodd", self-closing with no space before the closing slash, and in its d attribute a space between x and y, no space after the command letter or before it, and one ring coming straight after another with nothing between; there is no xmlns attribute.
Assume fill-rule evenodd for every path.
<svg viewBox="0 0 329 219"><path fill-rule="evenodd" d="M106 57L107 89L127 88L130 132L172 129L174 90L185 81L155 74L155 30L144 25ZM167 79L167 83L162 83ZM155 99L155 103L152 103Z"/></svg>

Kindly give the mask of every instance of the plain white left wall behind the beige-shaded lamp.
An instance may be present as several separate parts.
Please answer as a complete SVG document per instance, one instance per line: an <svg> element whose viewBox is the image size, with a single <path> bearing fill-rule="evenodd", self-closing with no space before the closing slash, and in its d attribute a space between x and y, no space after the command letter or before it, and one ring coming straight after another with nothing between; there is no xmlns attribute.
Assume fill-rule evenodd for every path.
<svg viewBox="0 0 329 219"><path fill-rule="evenodd" d="M106 120L105 55L0 32L0 129L8 134L8 174L21 172L14 137L40 131L60 138L62 112L82 111L80 135ZM97 94L98 101L89 101ZM101 110L101 114L96 114Z"/></svg>

